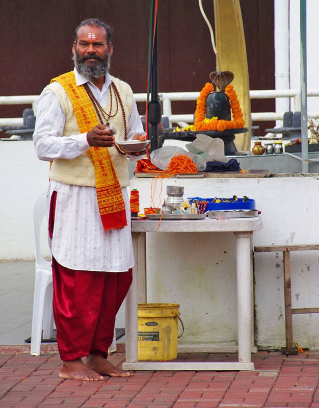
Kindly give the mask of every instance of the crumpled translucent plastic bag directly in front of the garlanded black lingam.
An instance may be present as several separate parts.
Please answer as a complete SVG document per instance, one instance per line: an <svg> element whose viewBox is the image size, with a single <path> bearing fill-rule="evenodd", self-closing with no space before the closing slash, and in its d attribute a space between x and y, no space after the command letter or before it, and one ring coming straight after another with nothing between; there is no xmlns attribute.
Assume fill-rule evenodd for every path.
<svg viewBox="0 0 319 408"><path fill-rule="evenodd" d="M197 155L202 156L206 162L228 163L225 156L224 141L220 138L211 138L198 133L192 143L188 143L186 148Z"/></svg>

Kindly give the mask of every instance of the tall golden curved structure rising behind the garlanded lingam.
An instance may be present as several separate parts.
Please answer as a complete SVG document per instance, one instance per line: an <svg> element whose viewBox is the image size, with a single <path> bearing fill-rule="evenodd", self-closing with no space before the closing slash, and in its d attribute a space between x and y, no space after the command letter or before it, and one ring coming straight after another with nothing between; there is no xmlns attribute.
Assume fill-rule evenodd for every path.
<svg viewBox="0 0 319 408"><path fill-rule="evenodd" d="M217 69L234 74L232 84L244 114L245 127L249 132L236 135L237 150L250 150L251 109L249 97L249 74L242 11L239 0L214 0L216 48L220 66Z"/></svg>

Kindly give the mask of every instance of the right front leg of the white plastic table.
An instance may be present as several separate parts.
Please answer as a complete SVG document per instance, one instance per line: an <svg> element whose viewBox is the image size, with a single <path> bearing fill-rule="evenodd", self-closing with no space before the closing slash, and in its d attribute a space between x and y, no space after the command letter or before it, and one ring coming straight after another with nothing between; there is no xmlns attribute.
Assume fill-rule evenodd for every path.
<svg viewBox="0 0 319 408"><path fill-rule="evenodd" d="M251 362L251 237L252 232L234 232L237 265L238 361Z"/></svg>

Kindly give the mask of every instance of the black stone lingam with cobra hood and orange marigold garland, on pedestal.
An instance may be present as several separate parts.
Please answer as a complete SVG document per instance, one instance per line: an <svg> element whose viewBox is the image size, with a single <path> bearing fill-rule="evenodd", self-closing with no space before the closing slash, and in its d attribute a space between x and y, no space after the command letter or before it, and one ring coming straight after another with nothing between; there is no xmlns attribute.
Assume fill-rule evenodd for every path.
<svg viewBox="0 0 319 408"><path fill-rule="evenodd" d="M165 139L193 141L197 134L204 134L224 141L225 156L239 153L234 144L235 134L246 133L243 113L237 94L230 83L234 79L231 71L214 71L209 75L210 83L206 83L197 99L194 115L195 131L182 130L164 132ZM217 90L218 89L218 90Z"/></svg>

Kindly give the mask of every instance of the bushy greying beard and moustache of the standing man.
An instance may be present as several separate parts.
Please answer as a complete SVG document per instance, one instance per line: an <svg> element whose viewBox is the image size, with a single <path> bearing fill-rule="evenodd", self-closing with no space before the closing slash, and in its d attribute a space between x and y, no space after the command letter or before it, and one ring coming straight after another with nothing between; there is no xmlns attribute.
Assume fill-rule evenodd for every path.
<svg viewBox="0 0 319 408"><path fill-rule="evenodd" d="M99 64L86 65L85 61L92 58L99 61ZM83 77L87 80L92 81L94 79L102 77L109 72L111 54L110 51L108 51L104 59L98 57L95 54L88 54L84 58L80 59L77 51L75 50L75 54L73 55L73 62L75 68L77 69L77 72L83 75Z"/></svg>

